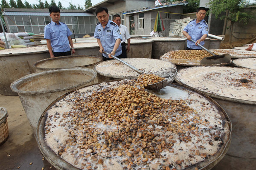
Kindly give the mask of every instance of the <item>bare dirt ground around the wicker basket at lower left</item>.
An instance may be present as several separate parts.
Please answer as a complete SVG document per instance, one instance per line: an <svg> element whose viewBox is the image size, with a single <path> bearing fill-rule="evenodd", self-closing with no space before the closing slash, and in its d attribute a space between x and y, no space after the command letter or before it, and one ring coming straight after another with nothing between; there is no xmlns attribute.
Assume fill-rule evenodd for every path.
<svg viewBox="0 0 256 170"><path fill-rule="evenodd" d="M0 146L0 170L56 170L43 160L19 96L0 94L0 107L9 114L9 138Z"/></svg>

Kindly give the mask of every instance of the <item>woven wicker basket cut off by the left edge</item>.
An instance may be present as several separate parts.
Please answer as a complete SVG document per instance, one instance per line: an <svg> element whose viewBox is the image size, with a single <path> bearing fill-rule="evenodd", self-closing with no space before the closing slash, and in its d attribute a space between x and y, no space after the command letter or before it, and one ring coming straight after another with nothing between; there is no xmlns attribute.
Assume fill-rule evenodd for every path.
<svg viewBox="0 0 256 170"><path fill-rule="evenodd" d="M7 110L0 107L0 145L2 145L9 136L8 124L7 124Z"/></svg>

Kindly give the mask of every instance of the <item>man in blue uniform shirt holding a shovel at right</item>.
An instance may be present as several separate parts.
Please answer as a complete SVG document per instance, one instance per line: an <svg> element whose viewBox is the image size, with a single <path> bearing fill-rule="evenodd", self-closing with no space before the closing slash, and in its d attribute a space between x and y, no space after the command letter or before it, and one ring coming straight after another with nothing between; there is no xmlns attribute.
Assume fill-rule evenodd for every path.
<svg viewBox="0 0 256 170"><path fill-rule="evenodd" d="M208 36L208 24L204 20L206 8L199 7L196 12L196 20L191 21L182 31L187 38L186 50L201 50L197 44L204 45L204 40ZM196 41L196 43L190 41Z"/></svg>

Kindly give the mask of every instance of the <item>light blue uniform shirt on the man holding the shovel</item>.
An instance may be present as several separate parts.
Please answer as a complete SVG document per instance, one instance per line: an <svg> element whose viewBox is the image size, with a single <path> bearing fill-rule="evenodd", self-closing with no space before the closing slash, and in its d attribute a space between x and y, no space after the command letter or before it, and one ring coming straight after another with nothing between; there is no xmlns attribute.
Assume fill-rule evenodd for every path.
<svg viewBox="0 0 256 170"><path fill-rule="evenodd" d="M191 21L188 25L183 29L186 31L192 40L199 40L204 34L208 35L208 24L205 20L201 20L199 23L196 23L196 20ZM204 41L200 42L200 45L204 45ZM187 47L192 49L202 49L198 45L195 45L194 42L187 40Z"/></svg>

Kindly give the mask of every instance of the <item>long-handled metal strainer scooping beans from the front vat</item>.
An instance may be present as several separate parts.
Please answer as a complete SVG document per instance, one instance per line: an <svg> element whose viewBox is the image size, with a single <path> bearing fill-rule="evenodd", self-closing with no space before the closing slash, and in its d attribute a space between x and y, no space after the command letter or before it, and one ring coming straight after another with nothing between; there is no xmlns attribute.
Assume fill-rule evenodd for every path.
<svg viewBox="0 0 256 170"><path fill-rule="evenodd" d="M109 55L109 53L103 51L104 54ZM114 59L118 60L119 62L122 62L123 64L127 65L129 68L133 69L134 71L136 71L139 74L155 74L159 77L163 77L165 78L163 81L154 83L154 84L149 84L147 86L145 86L146 89L150 89L150 90L160 90L161 88L166 87L167 85L169 85L173 80L174 77L177 74L177 69L176 68L167 68L164 70L160 70L160 71L156 71L154 73L145 73L141 70L139 70L138 68L135 68L134 66L130 65L129 63L123 61L122 59L119 59L113 55L111 55L111 57L113 57Z"/></svg>

